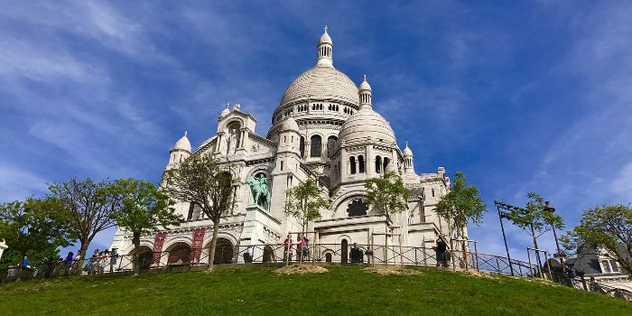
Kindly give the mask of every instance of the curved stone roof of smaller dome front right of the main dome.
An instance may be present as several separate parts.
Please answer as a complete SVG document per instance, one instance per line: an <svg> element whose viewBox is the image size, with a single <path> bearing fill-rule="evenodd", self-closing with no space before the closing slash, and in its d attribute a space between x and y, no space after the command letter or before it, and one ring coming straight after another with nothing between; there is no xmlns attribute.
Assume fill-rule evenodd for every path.
<svg viewBox="0 0 632 316"><path fill-rule="evenodd" d="M339 144L366 141L371 137L374 142L395 144L395 132L386 119L380 116L372 107L361 107L356 114L340 127Z"/></svg>

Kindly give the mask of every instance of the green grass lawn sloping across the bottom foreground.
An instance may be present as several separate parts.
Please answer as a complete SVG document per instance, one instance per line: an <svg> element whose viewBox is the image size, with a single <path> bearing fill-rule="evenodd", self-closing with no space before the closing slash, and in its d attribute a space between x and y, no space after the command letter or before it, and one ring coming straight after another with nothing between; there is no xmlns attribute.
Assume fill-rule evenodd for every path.
<svg viewBox="0 0 632 316"><path fill-rule="evenodd" d="M84 276L0 285L0 315L632 315L632 303L509 277L274 268Z"/></svg>

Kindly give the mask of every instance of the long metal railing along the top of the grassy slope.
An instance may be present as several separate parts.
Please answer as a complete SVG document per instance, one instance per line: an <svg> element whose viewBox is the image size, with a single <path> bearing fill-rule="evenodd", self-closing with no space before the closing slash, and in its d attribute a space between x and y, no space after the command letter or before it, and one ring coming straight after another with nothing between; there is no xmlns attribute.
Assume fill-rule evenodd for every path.
<svg viewBox="0 0 632 316"><path fill-rule="evenodd" d="M217 246L215 265L239 264L294 264L302 257L303 262L318 264L371 264L437 266L437 256L433 248L414 246L312 244L299 249L294 244L288 252L286 244L253 246ZM302 255L302 256L300 256ZM177 248L154 254L141 251L141 270L172 269L176 267L207 266L209 248ZM84 266L78 269L77 262L42 262L25 270L23 279L38 279L72 274L121 274L134 271L134 255L93 256L86 258ZM472 252L448 250L451 269L473 269L497 274L510 274L506 257ZM528 263L511 260L517 276L533 276L537 267ZM5 280L12 280L17 269L9 271ZM30 272L30 274L28 274Z"/></svg>

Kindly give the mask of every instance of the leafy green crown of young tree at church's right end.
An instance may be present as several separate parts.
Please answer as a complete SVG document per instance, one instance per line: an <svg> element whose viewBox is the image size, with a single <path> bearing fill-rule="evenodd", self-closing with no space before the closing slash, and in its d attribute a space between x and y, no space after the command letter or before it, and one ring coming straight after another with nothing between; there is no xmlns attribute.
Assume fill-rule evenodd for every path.
<svg viewBox="0 0 632 316"><path fill-rule="evenodd" d="M457 237L464 237L468 221L479 225L483 212L487 210L479 197L479 188L466 184L468 179L462 172L456 172L450 192L441 197L436 212L448 220L448 226Z"/></svg>

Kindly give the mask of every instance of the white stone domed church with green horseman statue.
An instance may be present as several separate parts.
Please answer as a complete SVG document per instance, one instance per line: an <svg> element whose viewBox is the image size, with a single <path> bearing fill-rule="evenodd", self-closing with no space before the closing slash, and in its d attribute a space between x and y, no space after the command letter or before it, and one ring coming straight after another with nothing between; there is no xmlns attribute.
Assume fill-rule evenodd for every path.
<svg viewBox="0 0 632 316"><path fill-rule="evenodd" d="M299 224L283 214L285 191L308 178L316 180L330 199L330 209L309 224L313 254L322 261L347 262L348 246L435 245L447 234L445 220L433 211L450 190L450 179L442 167L435 173L414 171L413 151L400 149L391 125L373 106L367 78L359 87L333 66L333 42L327 29L317 45L316 65L294 79L272 116L267 135L256 133L256 117L247 108L228 106L218 116L215 135L193 150L186 133L173 145L166 170L195 154L216 154L233 166L238 194L237 208L222 219L218 247L234 249L217 263L243 262L244 246L257 245L255 258L279 260L279 245L288 233L301 230ZM400 143L401 144L401 143ZM397 172L411 190L408 210L393 217L388 227L362 202L364 181L386 171ZM269 205L253 200L248 181L267 186ZM186 218L178 228L145 236L142 247L153 253L153 264L169 265L200 261L210 246L212 222L195 205L180 201L176 209ZM386 237L385 232L394 234ZM296 239L293 235L293 239ZM118 230L112 247L120 255L133 251L131 238ZM274 250L272 250L274 249ZM324 250L322 250L324 249ZM338 250L336 250L338 249ZM283 250L281 250L283 251ZM267 253L265 253L267 252ZM274 252L274 254L273 254Z"/></svg>

